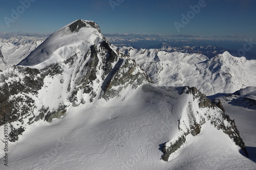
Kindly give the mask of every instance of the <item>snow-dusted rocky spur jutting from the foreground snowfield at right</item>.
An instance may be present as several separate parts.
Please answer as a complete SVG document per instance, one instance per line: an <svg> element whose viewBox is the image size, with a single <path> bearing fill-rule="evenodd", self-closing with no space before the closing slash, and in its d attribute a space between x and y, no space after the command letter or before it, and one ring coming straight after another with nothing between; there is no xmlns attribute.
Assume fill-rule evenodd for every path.
<svg viewBox="0 0 256 170"><path fill-rule="evenodd" d="M179 92L181 95L192 95L192 98L186 107L187 115L183 115L179 120L179 137L163 145L162 150L164 154L162 160L168 161L170 154L177 151L185 143L188 134L193 136L200 134L202 125L206 122L227 134L248 156L245 144L240 137L237 126L234 124L234 120L231 120L224 113L224 108L220 101L216 104L212 103L205 94L202 94L195 87L179 88Z"/></svg>

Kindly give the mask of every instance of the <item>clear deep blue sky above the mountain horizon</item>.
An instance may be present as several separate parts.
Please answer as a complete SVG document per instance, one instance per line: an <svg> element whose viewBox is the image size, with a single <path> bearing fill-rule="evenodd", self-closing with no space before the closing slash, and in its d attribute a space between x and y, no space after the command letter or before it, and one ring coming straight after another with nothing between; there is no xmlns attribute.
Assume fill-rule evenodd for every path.
<svg viewBox="0 0 256 170"><path fill-rule="evenodd" d="M31 1L27 9L20 3ZM133 1L111 0L8 0L0 6L0 32L53 33L76 19L96 21L102 33L198 35L231 39L256 39L256 1L205 0L200 12L191 13L190 6L203 0ZM35 2L33 2L35 1ZM20 14L12 18L12 9ZM188 23L182 24L182 15ZM6 19L12 19L9 26ZM174 23L184 27L179 32ZM185 22L183 22L185 23Z"/></svg>

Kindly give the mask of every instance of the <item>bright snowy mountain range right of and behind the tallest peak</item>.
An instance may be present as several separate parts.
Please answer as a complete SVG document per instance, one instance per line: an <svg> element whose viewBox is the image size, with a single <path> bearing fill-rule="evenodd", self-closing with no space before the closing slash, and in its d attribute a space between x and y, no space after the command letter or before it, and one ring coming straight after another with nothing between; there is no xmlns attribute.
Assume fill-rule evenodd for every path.
<svg viewBox="0 0 256 170"><path fill-rule="evenodd" d="M256 84L256 60L233 57L228 52L208 59L202 54L168 53L157 49L116 49L135 59L159 85L194 86L212 95L230 93Z"/></svg>

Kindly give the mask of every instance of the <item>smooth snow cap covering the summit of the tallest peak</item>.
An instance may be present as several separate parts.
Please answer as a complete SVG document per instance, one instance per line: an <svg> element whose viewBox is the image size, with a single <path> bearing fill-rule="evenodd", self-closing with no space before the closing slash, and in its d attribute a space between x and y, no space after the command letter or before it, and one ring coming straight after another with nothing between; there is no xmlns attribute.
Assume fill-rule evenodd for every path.
<svg viewBox="0 0 256 170"><path fill-rule="evenodd" d="M91 45L103 40L105 38L97 23L78 19L53 33L18 65L34 66L40 63L37 68L44 68L75 54L83 56Z"/></svg>

